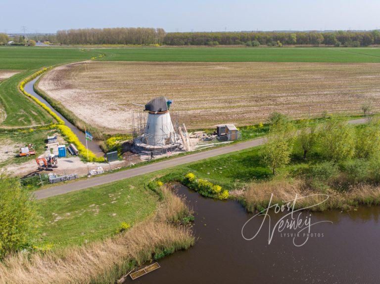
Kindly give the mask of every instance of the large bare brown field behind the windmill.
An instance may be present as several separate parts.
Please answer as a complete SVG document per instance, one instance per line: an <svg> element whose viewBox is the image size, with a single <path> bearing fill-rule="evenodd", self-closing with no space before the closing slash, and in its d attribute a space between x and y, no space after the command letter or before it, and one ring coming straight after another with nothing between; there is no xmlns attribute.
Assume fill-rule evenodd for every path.
<svg viewBox="0 0 380 284"><path fill-rule="evenodd" d="M174 101L189 128L380 110L379 63L80 62L55 68L39 87L80 119L109 132L131 128L132 112L156 96Z"/></svg>

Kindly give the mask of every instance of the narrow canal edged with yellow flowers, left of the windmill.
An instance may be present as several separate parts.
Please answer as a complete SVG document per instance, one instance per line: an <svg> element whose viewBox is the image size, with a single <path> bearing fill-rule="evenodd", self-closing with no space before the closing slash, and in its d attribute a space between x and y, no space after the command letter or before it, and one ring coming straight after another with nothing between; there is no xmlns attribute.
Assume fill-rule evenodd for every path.
<svg viewBox="0 0 380 284"><path fill-rule="evenodd" d="M41 102L43 102L44 104L46 104L51 109L51 111L54 112L59 118L61 118L65 122L66 126L68 126L75 133L75 135L78 136L79 141L81 141L83 145L86 145L85 133L82 132L81 130L79 130L74 124L72 124L71 122L69 122L68 120L66 120L43 97L41 97L39 94L37 94L34 91L33 85L35 84L35 82L39 78L40 78L40 76L38 76L34 80L26 83L25 86L24 86L24 89L29 94L31 94L32 96L38 98ZM99 147L99 145L96 143L96 141L87 141L87 145L89 147L89 150L91 150L96 156L102 156L104 154L103 151L101 150L101 148Z"/></svg>

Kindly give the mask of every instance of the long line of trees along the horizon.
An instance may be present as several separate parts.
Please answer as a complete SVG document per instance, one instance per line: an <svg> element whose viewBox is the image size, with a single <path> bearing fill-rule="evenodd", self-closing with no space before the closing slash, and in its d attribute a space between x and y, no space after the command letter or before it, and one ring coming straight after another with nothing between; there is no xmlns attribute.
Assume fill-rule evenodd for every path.
<svg viewBox="0 0 380 284"><path fill-rule="evenodd" d="M6 35L4 35L5 37ZM59 44L139 45L315 45L368 46L380 44L380 31L335 32L195 32L166 33L161 28L104 28L58 31L35 40ZM4 40L5 41L5 40Z"/></svg>

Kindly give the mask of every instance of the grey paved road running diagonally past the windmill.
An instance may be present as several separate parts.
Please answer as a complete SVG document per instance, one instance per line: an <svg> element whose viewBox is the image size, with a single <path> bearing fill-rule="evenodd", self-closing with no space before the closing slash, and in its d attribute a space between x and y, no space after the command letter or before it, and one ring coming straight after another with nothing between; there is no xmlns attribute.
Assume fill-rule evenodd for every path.
<svg viewBox="0 0 380 284"><path fill-rule="evenodd" d="M367 119L358 119L358 120L349 121L349 123L351 124L360 124L360 123L365 123L365 122L367 122ZM68 183L68 184L58 185L58 186L54 186L54 187L43 189L43 190L38 190L38 191L35 191L34 194L36 196L36 199L44 199L44 198L48 198L48 197L52 197L56 195L65 194L72 191L78 191L81 189L114 182L117 180L126 179L129 177L151 173L157 170L161 170L161 169L165 169L165 168L169 168L169 167L173 167L173 166L177 166L177 165L181 165L185 163L196 162L203 159L216 157L219 155L224 155L224 154L248 149L251 147L262 145L264 144L264 141L265 141L265 138L249 140L249 141L245 141L241 143L232 144L226 147L208 150L205 152L199 152L199 153L191 154L184 157L174 158L168 161L151 163L151 164L147 164L147 165L132 168L132 169L126 169L126 170L115 172L115 173L110 173L110 174L106 174L106 175L102 175L98 177L92 177L86 180L80 180L73 183Z"/></svg>

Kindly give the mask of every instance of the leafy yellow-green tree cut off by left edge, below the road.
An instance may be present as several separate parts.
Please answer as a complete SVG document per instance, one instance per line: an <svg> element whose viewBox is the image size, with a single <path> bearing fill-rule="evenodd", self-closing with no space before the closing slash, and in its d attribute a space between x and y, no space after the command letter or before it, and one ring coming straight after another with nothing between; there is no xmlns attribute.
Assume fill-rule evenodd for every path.
<svg viewBox="0 0 380 284"><path fill-rule="evenodd" d="M38 214L18 178L0 175L0 258L25 247L35 236Z"/></svg>

